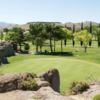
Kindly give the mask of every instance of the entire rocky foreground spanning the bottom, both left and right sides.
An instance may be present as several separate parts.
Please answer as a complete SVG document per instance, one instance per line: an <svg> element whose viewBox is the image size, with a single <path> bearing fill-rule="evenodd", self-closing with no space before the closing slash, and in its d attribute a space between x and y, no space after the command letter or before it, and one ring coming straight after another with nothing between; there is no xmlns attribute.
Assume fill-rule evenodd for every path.
<svg viewBox="0 0 100 100"><path fill-rule="evenodd" d="M37 88L34 90L29 82L36 82ZM93 82L82 94L70 96L62 96L59 87L60 77L57 69L49 70L40 76L33 73L1 75L0 100L92 100L96 94L100 94L100 82Z"/></svg>

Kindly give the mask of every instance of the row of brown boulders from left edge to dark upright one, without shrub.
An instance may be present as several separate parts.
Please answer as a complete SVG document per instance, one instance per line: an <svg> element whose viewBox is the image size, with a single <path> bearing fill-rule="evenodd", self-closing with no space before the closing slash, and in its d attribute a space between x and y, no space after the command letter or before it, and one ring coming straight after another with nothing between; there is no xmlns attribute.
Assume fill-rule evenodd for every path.
<svg viewBox="0 0 100 100"><path fill-rule="evenodd" d="M38 89L41 87L51 86L55 91L59 92L60 79L59 72L57 69L49 70L40 77L37 77L33 73L16 73L16 74L5 74L0 76L0 92L7 92L12 90L21 89L19 84L22 80L31 78L36 81Z"/></svg>

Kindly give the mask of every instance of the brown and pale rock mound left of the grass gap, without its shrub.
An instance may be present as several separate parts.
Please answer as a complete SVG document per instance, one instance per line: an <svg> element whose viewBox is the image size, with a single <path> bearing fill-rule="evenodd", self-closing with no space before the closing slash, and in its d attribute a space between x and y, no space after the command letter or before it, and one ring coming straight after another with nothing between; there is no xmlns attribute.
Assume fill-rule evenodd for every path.
<svg viewBox="0 0 100 100"><path fill-rule="evenodd" d="M23 90L19 87L21 80L35 80L37 91ZM25 85L26 86L26 85ZM0 100L72 100L58 92L60 77L57 69L49 70L40 76L32 73L16 73L0 76ZM57 92L55 92L55 91Z"/></svg>

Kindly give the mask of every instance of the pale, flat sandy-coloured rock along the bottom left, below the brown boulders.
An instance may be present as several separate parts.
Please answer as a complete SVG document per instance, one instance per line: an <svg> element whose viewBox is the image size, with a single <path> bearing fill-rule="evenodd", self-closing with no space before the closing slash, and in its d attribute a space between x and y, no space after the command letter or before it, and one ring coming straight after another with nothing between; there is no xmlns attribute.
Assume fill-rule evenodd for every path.
<svg viewBox="0 0 100 100"><path fill-rule="evenodd" d="M38 91L14 90L0 93L0 100L75 100L62 96L50 87L41 87Z"/></svg>

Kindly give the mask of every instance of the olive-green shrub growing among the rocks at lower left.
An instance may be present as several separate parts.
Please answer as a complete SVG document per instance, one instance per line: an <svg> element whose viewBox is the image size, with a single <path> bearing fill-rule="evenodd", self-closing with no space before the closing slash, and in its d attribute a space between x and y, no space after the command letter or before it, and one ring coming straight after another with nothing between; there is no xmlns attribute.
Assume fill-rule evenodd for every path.
<svg viewBox="0 0 100 100"><path fill-rule="evenodd" d="M21 90L37 90L38 85L32 78L23 79L18 83L18 88Z"/></svg>

